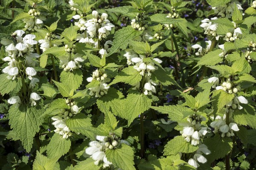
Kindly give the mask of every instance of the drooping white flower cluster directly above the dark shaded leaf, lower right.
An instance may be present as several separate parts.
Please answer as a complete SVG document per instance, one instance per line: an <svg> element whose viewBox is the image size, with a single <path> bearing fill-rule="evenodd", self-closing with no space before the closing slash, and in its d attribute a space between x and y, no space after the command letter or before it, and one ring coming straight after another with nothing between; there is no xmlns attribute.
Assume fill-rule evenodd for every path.
<svg viewBox="0 0 256 170"><path fill-rule="evenodd" d="M221 137L234 136L234 131L239 131L239 128L235 122L232 122L232 118L229 119L230 123L226 124L226 115L223 117L216 116L215 121L210 124L214 128L214 133L221 133Z"/></svg>

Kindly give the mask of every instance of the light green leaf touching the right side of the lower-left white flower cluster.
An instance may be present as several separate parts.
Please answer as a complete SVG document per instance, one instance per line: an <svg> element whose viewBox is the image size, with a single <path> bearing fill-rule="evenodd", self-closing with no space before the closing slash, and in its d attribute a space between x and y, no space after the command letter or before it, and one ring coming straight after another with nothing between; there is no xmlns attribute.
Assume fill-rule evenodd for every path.
<svg viewBox="0 0 256 170"><path fill-rule="evenodd" d="M87 117L84 113L78 113L76 116L67 119L67 127L70 128L73 132L81 133L90 139L94 139L94 134L90 133L87 130L82 129L81 127L92 126L91 119Z"/></svg>

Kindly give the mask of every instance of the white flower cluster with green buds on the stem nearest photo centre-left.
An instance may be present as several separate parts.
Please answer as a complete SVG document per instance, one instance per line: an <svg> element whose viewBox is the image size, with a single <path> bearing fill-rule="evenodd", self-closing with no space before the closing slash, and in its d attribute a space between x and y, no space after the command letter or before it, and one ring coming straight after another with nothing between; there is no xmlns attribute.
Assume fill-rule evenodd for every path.
<svg viewBox="0 0 256 170"><path fill-rule="evenodd" d="M87 78L87 82L92 82L93 80L99 82L95 87L89 88L91 96L102 97L104 94L108 94L109 86L106 82L109 82L110 79L107 77L108 75L103 70L96 69L93 71L93 76Z"/></svg>

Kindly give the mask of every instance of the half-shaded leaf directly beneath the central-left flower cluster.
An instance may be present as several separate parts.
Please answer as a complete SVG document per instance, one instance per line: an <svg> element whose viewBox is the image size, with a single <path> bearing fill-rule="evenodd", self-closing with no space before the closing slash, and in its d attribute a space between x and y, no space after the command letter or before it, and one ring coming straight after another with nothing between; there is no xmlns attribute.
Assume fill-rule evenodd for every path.
<svg viewBox="0 0 256 170"><path fill-rule="evenodd" d="M109 88L108 94L97 99L97 106L103 113L108 113L111 107L114 107L119 99L123 98L122 93L115 88ZM116 113L114 113L116 115Z"/></svg>

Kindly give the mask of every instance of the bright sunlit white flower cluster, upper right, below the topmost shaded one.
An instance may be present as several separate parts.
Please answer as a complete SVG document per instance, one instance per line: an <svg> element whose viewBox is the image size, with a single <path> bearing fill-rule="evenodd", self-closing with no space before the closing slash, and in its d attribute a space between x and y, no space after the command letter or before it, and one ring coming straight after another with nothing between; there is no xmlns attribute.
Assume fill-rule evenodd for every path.
<svg viewBox="0 0 256 170"><path fill-rule="evenodd" d="M217 17L211 18L211 20L217 20ZM216 34L217 24L212 24L212 22L209 19L201 20L202 24L200 25L202 28L204 28L204 34L208 36L215 37L216 40L219 39L219 36Z"/></svg>

